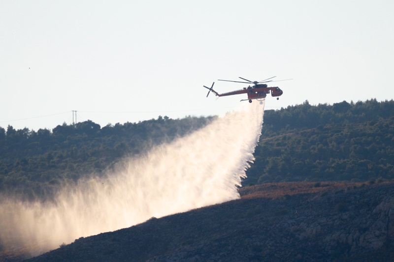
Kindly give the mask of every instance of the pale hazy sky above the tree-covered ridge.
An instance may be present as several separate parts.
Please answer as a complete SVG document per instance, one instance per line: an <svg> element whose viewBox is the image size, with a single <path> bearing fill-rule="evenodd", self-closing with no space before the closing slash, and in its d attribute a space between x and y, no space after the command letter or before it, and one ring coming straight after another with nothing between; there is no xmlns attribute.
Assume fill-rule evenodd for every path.
<svg viewBox="0 0 394 262"><path fill-rule="evenodd" d="M393 0L1 0L0 126L223 115L272 83L265 109L394 98ZM248 102L242 102L248 103Z"/></svg>

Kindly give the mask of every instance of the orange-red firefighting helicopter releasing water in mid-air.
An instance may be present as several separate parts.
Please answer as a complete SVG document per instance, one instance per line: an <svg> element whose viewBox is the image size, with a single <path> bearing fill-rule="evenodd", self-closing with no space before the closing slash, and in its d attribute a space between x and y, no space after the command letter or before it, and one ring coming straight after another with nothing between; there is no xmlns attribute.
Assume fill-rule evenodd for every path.
<svg viewBox="0 0 394 262"><path fill-rule="evenodd" d="M274 76L275 77L275 76ZM231 81L231 80L222 80L219 79L218 81L227 81L227 82L235 82L235 83L246 83L246 84L253 84L253 86L249 86L249 87L244 87L243 89L240 90L235 90L235 91L231 91L231 92L227 92L227 93L223 93L223 94L219 94L218 92L216 92L215 90L213 90L213 85L215 84L215 82L212 83L212 87L205 87L207 88L208 94L206 95L206 97L208 97L209 92L212 91L216 96L227 96L227 95L234 95L234 94L248 94L248 99L242 99L241 101L246 101L249 100L249 103L252 103L252 99L263 99L267 96L267 94L271 93L271 96L280 96L283 94L283 91L279 88L279 87L268 87L266 84L263 83L268 83L268 82L279 82L279 81L285 81L285 80L291 80L291 79L285 79L285 80L278 80L278 81L272 81L269 79L272 79L274 77L270 77L267 78L263 81L250 81L247 80L245 78L239 77L242 80L245 80L247 82L241 82L241 81ZM267 81L269 80L269 81ZM276 99L279 99L279 97L277 97Z"/></svg>

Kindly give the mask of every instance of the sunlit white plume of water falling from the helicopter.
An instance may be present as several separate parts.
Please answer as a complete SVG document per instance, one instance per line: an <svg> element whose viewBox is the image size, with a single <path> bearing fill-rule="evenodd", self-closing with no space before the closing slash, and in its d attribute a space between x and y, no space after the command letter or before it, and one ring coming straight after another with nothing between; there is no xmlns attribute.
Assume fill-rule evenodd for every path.
<svg viewBox="0 0 394 262"><path fill-rule="evenodd" d="M34 245L37 255L81 236L239 198L235 185L253 161L264 101L244 106L124 161L114 174L65 187L51 202L1 201L3 246Z"/></svg>

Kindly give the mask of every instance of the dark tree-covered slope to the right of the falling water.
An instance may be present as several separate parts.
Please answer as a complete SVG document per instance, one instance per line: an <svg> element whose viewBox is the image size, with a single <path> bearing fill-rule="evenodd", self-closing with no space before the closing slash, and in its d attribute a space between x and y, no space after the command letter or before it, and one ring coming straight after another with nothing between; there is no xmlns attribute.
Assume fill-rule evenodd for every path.
<svg viewBox="0 0 394 262"><path fill-rule="evenodd" d="M244 185L394 179L394 101L289 106L264 112Z"/></svg>

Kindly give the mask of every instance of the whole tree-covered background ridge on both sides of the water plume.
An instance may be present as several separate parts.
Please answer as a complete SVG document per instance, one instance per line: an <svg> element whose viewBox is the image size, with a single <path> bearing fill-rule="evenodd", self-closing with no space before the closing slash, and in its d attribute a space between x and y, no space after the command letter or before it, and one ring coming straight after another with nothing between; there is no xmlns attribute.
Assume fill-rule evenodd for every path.
<svg viewBox="0 0 394 262"><path fill-rule="evenodd" d="M91 120L52 130L0 127L0 192L28 197L83 174L102 175L129 155L170 142L211 117L157 119L101 127ZM394 179L394 101L289 106L264 112L243 185L279 181Z"/></svg>

